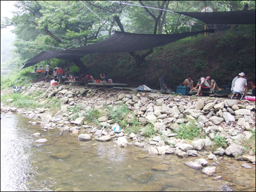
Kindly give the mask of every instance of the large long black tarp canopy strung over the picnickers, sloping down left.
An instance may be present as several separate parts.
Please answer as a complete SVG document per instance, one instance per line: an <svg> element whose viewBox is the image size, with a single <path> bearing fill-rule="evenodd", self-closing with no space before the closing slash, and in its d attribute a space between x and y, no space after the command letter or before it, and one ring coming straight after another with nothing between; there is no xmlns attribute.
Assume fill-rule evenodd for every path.
<svg viewBox="0 0 256 192"><path fill-rule="evenodd" d="M109 38L88 46L67 49L63 51L42 51L38 55L27 60L22 68L24 69L36 63L51 58L73 60L84 57L88 54L97 53L122 53L134 52L162 46L200 33L214 33L214 29L205 31L176 33L176 34L136 34L115 31Z"/></svg>

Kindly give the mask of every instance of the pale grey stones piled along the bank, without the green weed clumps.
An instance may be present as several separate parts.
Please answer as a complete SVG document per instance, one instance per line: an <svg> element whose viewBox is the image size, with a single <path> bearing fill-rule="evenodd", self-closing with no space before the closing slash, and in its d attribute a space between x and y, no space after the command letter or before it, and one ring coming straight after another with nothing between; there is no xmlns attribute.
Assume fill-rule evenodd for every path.
<svg viewBox="0 0 256 192"><path fill-rule="evenodd" d="M121 147L127 145L144 147L152 155L175 154L180 158L197 157L204 147L215 144L215 137L221 136L225 138L228 147L226 149L218 148L212 154L213 159L216 156L224 155L236 157L245 152L241 141L252 137L250 130L255 130L255 102L247 100L129 93L117 92L113 89L65 85L52 87L49 86L49 83L44 82L31 84L22 94L33 95L36 91L43 92L40 96L34 97L42 104L43 108L20 112L28 118L39 118L40 121L37 123L40 123L42 129L57 127L61 134L65 132L73 135L80 133L79 141L117 139L117 143ZM60 99L61 110L56 114L49 114L49 109L44 107L47 106L51 97ZM91 108L104 113L106 106L114 107L121 103L131 110L126 117L127 122L132 123L134 118L137 118L142 130L147 123L152 123L157 132L155 137L146 140L142 130L137 135L134 133L129 135L123 129L119 133L115 133L111 128L116 122L108 119L106 114L98 119L101 127L87 124L84 114ZM75 104L79 104L80 111L73 113L72 109ZM8 109L1 107L1 110L7 111ZM15 112L17 109L12 108L9 111ZM205 139L195 138L191 143L186 143L185 140L175 137L179 132L180 124L189 125L191 121L207 135ZM88 134L83 134L84 131L87 131ZM250 155L255 154L250 152ZM216 159L216 161L218 160ZM193 168L203 166L194 162L188 162L187 165ZM208 172L211 173L211 171Z"/></svg>

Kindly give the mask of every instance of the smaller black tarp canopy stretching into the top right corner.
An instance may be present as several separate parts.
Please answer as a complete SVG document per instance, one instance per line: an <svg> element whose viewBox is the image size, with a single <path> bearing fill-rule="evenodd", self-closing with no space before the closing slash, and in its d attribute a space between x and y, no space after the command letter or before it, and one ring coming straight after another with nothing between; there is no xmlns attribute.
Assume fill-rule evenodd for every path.
<svg viewBox="0 0 256 192"><path fill-rule="evenodd" d="M222 12L174 12L197 18L205 24L255 24L255 9Z"/></svg>

